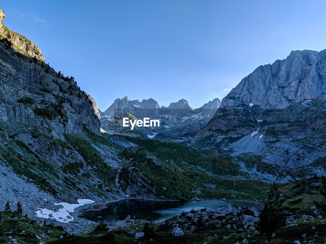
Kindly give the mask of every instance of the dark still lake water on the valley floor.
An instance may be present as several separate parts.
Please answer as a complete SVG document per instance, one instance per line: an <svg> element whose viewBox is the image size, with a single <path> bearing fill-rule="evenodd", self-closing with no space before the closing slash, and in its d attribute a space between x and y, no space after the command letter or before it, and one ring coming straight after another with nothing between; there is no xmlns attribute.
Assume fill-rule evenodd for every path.
<svg viewBox="0 0 326 244"><path fill-rule="evenodd" d="M263 206L256 205L244 201L222 201L222 200L201 200L196 201L146 201L139 199L122 200L107 205L106 209L99 211L88 211L84 217L89 220L95 220L98 216L102 216L104 221L124 220L127 215L135 216L137 219L147 219L153 222L161 222L167 220L182 211L190 211L204 209L216 210L227 204L237 206L256 207L261 210Z"/></svg>

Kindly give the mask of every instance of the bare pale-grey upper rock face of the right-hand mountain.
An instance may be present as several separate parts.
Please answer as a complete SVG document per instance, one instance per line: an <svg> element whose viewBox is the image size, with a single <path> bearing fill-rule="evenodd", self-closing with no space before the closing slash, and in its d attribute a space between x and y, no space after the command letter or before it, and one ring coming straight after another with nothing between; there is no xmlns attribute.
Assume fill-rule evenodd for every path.
<svg viewBox="0 0 326 244"><path fill-rule="evenodd" d="M284 60L259 66L230 91L221 107L244 103L284 109L292 102L317 98L326 89L325 52L292 51Z"/></svg>

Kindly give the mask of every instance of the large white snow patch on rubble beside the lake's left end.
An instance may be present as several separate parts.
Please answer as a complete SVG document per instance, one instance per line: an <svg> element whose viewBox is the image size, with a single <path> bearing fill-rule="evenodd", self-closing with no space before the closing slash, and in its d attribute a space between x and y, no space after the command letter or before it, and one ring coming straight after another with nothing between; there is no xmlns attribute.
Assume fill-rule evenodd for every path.
<svg viewBox="0 0 326 244"><path fill-rule="evenodd" d="M63 208L59 209L58 211L38 208L39 210L36 211L36 216L46 219L52 218L59 222L67 223L74 220L74 217L70 216L70 213L74 212L76 208L84 206L85 204L93 203L94 201L89 199L78 199L77 202L78 204L70 204L67 202L54 203L55 206L63 206ZM49 216L50 214L52 214L52 217Z"/></svg>

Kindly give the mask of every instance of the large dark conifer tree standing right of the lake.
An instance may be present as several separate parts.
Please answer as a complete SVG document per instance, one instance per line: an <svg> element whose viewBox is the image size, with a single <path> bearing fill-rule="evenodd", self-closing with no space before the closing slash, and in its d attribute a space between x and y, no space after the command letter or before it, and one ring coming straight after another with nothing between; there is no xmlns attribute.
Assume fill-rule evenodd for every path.
<svg viewBox="0 0 326 244"><path fill-rule="evenodd" d="M280 194L276 183L270 188L268 200L264 209L259 211L260 220L258 228L261 233L272 233L281 226L285 225L285 217L282 214Z"/></svg>

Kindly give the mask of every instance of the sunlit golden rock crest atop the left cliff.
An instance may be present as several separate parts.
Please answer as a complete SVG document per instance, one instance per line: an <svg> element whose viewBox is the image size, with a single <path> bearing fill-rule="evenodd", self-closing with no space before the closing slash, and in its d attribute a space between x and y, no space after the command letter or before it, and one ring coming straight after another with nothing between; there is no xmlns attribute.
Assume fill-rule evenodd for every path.
<svg viewBox="0 0 326 244"><path fill-rule="evenodd" d="M37 60L45 62L44 56L41 53L41 49L34 43L28 40L25 36L16 32L10 31L3 25L5 14L0 8L0 40L4 40L7 46L13 48L15 51L22 55L27 55Z"/></svg>

